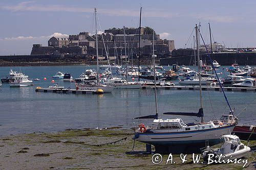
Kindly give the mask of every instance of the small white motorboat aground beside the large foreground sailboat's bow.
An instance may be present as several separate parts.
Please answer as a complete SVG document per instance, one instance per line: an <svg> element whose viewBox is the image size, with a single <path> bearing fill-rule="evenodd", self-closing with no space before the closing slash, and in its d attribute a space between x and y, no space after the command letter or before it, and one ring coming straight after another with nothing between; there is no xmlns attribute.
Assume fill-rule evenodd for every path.
<svg viewBox="0 0 256 170"><path fill-rule="evenodd" d="M242 158L251 150L245 144L241 143L239 137L236 135L223 135L222 137L225 142L221 148L210 149L207 147L206 151L203 152L203 159L205 161L207 161L209 157L216 160L233 160L236 158ZM209 154L212 155L210 156Z"/></svg>

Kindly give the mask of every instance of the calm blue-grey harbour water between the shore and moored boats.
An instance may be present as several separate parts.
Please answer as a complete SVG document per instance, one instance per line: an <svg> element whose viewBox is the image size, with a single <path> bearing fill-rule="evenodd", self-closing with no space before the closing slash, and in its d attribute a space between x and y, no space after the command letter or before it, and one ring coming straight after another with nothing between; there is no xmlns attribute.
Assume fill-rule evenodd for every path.
<svg viewBox="0 0 256 170"><path fill-rule="evenodd" d="M5 77L11 67L0 67L0 77ZM116 89L112 93L58 94L35 92L36 86L48 87L57 71L70 72L78 78L87 66L37 66L13 67L30 78L39 78L34 86L10 88L3 84L0 90L0 136L52 132L67 128L105 128L122 125L132 128L138 123L133 117L155 114L153 89ZM91 66L91 68L96 68ZM168 67L165 67L167 69ZM190 67L193 68L193 67ZM225 67L224 67L225 68ZM219 72L227 72L219 69ZM224 75L224 74L223 74ZM44 81L43 78L47 80ZM223 76L224 77L224 76ZM74 83L56 81L60 86L74 88ZM176 83L176 82L175 82ZM159 113L168 111L194 111L200 106L199 91L158 90ZM255 124L255 92L226 92L240 123ZM227 114L229 109L219 91L203 91L205 120ZM170 116L162 116L167 118ZM199 120L182 117L184 122ZM152 124L152 120L140 123Z"/></svg>

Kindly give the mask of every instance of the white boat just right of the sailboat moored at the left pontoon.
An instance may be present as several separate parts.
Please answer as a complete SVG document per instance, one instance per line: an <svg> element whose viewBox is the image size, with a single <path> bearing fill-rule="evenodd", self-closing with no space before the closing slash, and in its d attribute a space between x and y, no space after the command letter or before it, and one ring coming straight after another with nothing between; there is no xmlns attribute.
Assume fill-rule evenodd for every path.
<svg viewBox="0 0 256 170"><path fill-rule="evenodd" d="M115 89L139 89L141 86L138 82L127 82L122 78L103 79L103 84L114 86Z"/></svg>

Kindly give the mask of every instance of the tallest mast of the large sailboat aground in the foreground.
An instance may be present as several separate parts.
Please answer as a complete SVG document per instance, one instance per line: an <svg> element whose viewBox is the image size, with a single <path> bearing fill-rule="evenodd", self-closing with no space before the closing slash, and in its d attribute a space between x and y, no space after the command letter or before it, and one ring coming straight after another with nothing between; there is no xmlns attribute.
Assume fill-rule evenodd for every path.
<svg viewBox="0 0 256 170"><path fill-rule="evenodd" d="M196 38L197 38L197 65L198 65L198 75L199 75L199 91L200 91L200 109L203 109L203 100L202 100L202 82L201 82L201 62L200 62L200 53L199 53L199 30L196 25ZM201 122L204 122L204 117L201 117Z"/></svg>

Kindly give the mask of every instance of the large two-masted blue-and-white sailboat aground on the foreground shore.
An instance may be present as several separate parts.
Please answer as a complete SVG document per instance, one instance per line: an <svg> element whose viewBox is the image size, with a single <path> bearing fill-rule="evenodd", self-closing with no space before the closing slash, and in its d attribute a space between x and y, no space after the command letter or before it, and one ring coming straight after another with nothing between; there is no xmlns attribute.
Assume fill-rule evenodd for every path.
<svg viewBox="0 0 256 170"><path fill-rule="evenodd" d="M198 61L199 61L200 59L199 59L198 33L199 33L198 27L196 25L197 51L198 51L197 53L198 53ZM155 57L156 55L152 55L154 70L155 70ZM218 144L222 141L221 140L222 135L227 135L227 134L230 134L230 132L232 132L234 126L236 126L236 123L237 123L237 118L233 116L233 114L231 115L231 118L234 119L235 123L232 123L232 124L222 123L222 122L214 123L211 121L204 122L200 64L198 65L198 69L199 69L198 72L199 72L199 81L200 81L199 85L200 85L200 105L201 105L198 113L166 112L163 114L197 116L197 117L201 117L201 122L185 124L181 118L168 118L168 119L159 118L158 106L157 106L156 84L155 84L156 114L135 117L135 118L136 119L154 118L153 123L156 125L154 127L145 127L144 124L140 124L139 128L135 132L134 139L143 143L154 145L155 153L188 154L188 153L201 153L200 148L206 147L205 146L206 143L209 146ZM221 86L219 78L218 78L218 81ZM156 79L155 79L155 82L156 82ZM225 99L227 99L226 96L225 96ZM230 106L229 106L229 109L231 110ZM232 110L231 110L231 113L233 113Z"/></svg>

